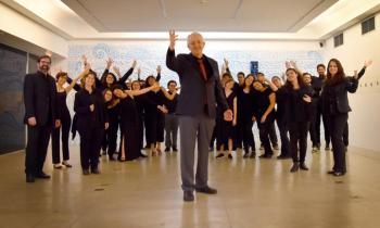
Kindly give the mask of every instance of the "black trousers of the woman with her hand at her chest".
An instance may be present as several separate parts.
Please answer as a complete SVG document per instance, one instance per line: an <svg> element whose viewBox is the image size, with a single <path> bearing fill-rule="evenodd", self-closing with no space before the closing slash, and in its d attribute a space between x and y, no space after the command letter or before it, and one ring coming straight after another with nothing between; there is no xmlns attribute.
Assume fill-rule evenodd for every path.
<svg viewBox="0 0 380 228"><path fill-rule="evenodd" d="M100 148L102 144L103 128L79 129L80 164L83 169L98 168Z"/></svg>

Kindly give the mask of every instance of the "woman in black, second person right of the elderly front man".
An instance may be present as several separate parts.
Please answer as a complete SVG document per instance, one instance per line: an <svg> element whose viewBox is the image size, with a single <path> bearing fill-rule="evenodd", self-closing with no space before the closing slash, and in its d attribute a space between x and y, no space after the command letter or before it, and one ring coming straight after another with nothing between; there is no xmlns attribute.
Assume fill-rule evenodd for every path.
<svg viewBox="0 0 380 228"><path fill-rule="evenodd" d="M254 76L252 74L246 75L244 88L240 90L238 94L238 128L241 128L241 138L243 141L244 155L243 157L254 159L256 156L255 139L253 137L253 87ZM250 152L251 151L251 152ZM251 153L251 154L250 154Z"/></svg>

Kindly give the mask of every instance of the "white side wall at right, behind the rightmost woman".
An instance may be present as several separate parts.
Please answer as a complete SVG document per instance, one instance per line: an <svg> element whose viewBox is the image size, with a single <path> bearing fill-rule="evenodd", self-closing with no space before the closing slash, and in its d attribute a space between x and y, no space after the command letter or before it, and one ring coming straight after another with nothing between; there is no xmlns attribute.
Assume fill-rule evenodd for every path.
<svg viewBox="0 0 380 228"><path fill-rule="evenodd" d="M360 69L365 60L373 60L355 94L350 96L353 110L350 113L350 143L352 145L380 151L380 14L376 15L377 28L362 36L360 24L344 30L344 45L333 48L333 38L326 42L324 58L342 62L346 75Z"/></svg>

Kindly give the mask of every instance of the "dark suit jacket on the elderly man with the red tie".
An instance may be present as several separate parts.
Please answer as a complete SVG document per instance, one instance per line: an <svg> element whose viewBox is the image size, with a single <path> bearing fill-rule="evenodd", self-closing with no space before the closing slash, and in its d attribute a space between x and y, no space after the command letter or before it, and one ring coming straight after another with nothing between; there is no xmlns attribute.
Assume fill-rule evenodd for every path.
<svg viewBox="0 0 380 228"><path fill-rule="evenodd" d="M176 114L195 116L204 112L205 98L207 112L212 118L216 117L216 105L223 111L228 107L225 93L221 89L218 64L215 60L205 56L208 65L207 81L202 79L199 63L191 54L175 55L167 50L166 66L179 76L181 92L178 97Z"/></svg>

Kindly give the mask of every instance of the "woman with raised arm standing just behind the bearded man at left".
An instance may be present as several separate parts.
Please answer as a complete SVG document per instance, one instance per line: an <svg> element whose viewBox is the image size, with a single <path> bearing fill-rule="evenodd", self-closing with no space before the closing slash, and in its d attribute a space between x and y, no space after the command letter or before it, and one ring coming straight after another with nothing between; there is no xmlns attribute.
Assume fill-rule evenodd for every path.
<svg viewBox="0 0 380 228"><path fill-rule="evenodd" d="M89 72L89 68L85 69L78 77L76 77L74 80L72 80L67 73L60 72L56 74L56 106L60 110L60 116L61 116L61 126L58 128L53 128L51 132L51 152L52 152L52 159L53 159L53 167L56 169L62 168L62 165L66 167L72 167L71 164L68 164L69 159L69 150L68 150L68 135L69 135L69 128L72 125L72 117L68 112L68 107L66 104L66 98L68 92L74 88L76 91L80 90L80 86L77 85L77 81L80 80L87 73ZM69 85L67 87L63 87L66 83ZM60 135L62 129L62 155L63 155L63 162L61 163L60 157Z"/></svg>

